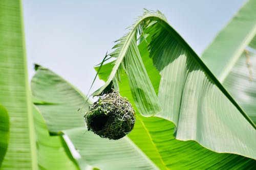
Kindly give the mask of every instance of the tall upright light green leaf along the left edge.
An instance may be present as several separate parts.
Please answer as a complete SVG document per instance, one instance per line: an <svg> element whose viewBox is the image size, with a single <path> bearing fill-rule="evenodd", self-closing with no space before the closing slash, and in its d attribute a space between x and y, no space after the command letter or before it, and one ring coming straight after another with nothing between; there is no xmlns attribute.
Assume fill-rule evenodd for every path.
<svg viewBox="0 0 256 170"><path fill-rule="evenodd" d="M10 117L1 169L36 169L33 115L20 1L0 1L0 103Z"/></svg>

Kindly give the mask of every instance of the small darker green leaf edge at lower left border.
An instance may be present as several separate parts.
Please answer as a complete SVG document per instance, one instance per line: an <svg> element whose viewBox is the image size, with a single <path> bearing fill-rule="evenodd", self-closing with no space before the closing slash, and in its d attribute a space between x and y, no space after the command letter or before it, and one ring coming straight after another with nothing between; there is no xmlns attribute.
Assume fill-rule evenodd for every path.
<svg viewBox="0 0 256 170"><path fill-rule="evenodd" d="M5 157L9 142L9 115L4 106L0 105L0 167Z"/></svg>

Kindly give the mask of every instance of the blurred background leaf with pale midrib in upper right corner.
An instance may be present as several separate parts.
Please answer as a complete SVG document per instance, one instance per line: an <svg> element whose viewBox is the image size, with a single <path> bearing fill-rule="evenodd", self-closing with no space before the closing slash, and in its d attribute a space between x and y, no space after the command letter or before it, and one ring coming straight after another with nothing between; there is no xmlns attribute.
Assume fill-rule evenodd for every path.
<svg viewBox="0 0 256 170"><path fill-rule="evenodd" d="M248 1L221 30L201 57L254 124L256 123L255 8L256 2ZM249 48L247 49L246 46Z"/></svg>

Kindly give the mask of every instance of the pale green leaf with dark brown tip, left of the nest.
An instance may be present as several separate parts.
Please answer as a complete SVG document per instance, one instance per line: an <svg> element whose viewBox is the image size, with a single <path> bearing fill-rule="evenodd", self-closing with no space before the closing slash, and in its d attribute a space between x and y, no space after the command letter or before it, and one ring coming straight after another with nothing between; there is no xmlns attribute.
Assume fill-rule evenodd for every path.
<svg viewBox="0 0 256 170"><path fill-rule="evenodd" d="M31 90L34 104L51 133L84 126L83 114L77 111L84 102L83 94L54 72L38 67L31 81ZM86 102L84 107L89 104Z"/></svg>

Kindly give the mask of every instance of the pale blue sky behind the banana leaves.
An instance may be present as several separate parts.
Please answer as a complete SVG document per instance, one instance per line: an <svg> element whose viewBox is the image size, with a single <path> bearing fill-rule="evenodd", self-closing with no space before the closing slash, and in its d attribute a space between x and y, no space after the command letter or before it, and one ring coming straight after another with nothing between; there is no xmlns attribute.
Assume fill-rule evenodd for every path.
<svg viewBox="0 0 256 170"><path fill-rule="evenodd" d="M87 1L23 0L28 72L33 63L50 68L84 94L94 66L143 9L159 10L200 56L245 0ZM90 93L103 85L96 80Z"/></svg>

